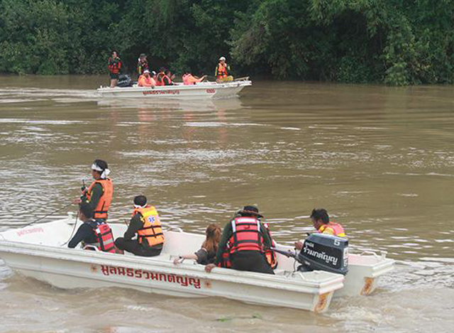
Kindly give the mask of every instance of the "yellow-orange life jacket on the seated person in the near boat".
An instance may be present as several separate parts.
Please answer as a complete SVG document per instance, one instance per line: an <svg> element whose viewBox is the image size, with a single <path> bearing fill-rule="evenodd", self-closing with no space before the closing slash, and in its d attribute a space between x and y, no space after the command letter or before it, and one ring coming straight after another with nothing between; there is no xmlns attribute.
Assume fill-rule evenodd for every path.
<svg viewBox="0 0 454 333"><path fill-rule="evenodd" d="M161 221L155 207L135 208L133 216L137 213L140 214L140 220L143 222L142 229L137 231L139 243L147 242L148 246L164 244Z"/></svg>

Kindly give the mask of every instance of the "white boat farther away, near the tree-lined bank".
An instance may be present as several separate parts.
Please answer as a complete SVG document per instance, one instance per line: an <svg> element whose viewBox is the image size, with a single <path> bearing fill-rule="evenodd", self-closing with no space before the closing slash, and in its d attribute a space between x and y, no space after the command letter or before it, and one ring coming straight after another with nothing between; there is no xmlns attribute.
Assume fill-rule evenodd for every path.
<svg viewBox="0 0 454 333"><path fill-rule="evenodd" d="M238 80L226 83L200 82L184 85L176 83L159 87L100 87L97 92L108 98L147 98L147 99L211 99L234 97L244 87L252 85L250 80Z"/></svg>

